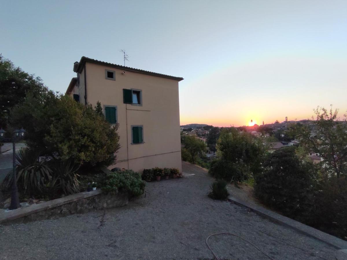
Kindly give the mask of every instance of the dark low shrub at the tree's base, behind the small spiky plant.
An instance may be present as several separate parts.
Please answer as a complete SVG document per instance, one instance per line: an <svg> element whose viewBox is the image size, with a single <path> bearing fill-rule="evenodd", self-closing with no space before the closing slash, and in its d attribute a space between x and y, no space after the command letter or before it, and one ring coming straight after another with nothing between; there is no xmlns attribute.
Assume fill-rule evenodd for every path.
<svg viewBox="0 0 347 260"><path fill-rule="evenodd" d="M218 158L211 162L209 173L216 179L237 183L248 179L249 168L244 164L232 163Z"/></svg>

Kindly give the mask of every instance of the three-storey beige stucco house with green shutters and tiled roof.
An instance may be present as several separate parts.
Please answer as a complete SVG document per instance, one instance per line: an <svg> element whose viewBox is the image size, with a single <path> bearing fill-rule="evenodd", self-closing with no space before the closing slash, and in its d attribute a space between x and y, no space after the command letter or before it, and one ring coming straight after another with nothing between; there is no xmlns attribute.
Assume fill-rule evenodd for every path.
<svg viewBox="0 0 347 260"><path fill-rule="evenodd" d="M67 95L82 104L100 101L110 123L118 123L120 167L181 167L178 82L173 77L82 57Z"/></svg>

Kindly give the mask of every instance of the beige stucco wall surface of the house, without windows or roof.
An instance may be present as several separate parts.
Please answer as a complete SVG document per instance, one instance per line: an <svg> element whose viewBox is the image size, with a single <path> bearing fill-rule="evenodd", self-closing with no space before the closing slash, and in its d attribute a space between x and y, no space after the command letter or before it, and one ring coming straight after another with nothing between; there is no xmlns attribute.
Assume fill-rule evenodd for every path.
<svg viewBox="0 0 347 260"><path fill-rule="evenodd" d="M116 80L105 79L105 69L116 71ZM86 63L87 102L117 106L121 148L112 167L142 171L177 167L181 171L178 81ZM81 74L81 86L82 83ZM82 85L83 84L83 85ZM123 103L123 88L141 89L142 106ZM84 90L84 89L83 89ZM83 93L84 95L84 93ZM82 91L81 103L84 100ZM144 144L132 145L131 125L143 125Z"/></svg>

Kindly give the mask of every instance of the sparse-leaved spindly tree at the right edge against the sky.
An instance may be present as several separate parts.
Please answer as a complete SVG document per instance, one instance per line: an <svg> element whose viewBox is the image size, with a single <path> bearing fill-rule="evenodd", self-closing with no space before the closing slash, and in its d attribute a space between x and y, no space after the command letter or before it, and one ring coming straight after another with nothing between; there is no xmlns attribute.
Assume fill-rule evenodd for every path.
<svg viewBox="0 0 347 260"><path fill-rule="evenodd" d="M318 153L322 158L323 170L329 175L347 174L347 126L346 122L338 121L338 109L326 110L324 107L314 109L316 118L312 117L315 135L310 128L297 124L293 127L300 144L307 151ZM346 115L345 115L346 117ZM346 121L346 120L345 120Z"/></svg>

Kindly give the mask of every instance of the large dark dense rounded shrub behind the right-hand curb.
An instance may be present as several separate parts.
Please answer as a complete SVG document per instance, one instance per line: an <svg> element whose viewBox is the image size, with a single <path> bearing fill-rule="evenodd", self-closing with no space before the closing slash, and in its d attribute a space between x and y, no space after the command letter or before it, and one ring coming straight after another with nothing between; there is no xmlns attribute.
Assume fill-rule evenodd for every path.
<svg viewBox="0 0 347 260"><path fill-rule="evenodd" d="M270 154L263 167L263 172L255 175L255 195L288 217L299 221L310 218L317 180L313 164L288 147Z"/></svg>

